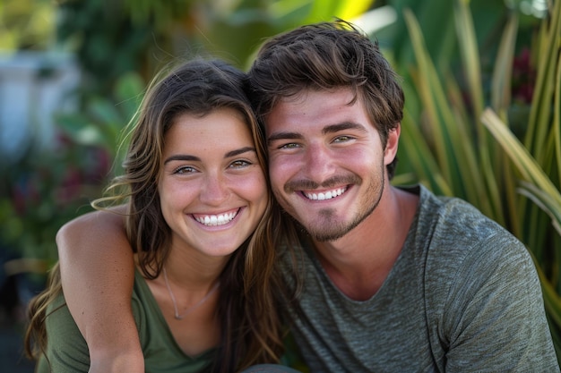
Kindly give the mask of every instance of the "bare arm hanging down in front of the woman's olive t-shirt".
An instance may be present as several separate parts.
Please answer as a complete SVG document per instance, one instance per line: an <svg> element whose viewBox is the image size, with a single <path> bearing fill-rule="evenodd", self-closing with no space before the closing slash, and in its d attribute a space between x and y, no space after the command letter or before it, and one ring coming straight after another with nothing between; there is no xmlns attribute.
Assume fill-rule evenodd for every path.
<svg viewBox="0 0 561 373"><path fill-rule="evenodd" d="M77 217L58 231L56 244L65 300L88 343L90 372L143 372L131 309L134 257L123 216Z"/></svg>

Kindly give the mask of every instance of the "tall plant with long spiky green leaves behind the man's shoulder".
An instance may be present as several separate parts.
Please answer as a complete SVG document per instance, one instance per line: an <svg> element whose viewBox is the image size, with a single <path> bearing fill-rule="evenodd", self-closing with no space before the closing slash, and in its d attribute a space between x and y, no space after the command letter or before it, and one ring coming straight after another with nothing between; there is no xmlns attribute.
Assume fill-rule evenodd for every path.
<svg viewBox="0 0 561 373"><path fill-rule="evenodd" d="M539 269L561 356L561 2L550 4L548 17L526 46L536 74L535 81L529 79L534 82L531 102L518 95L514 79L517 54L526 53L517 50L517 13L507 13L493 53L495 65L486 74L470 4L454 1L462 62L462 73L454 75L444 65L436 68L418 21L404 11L417 64L410 75L414 84L407 87L401 155L414 178L436 192L470 201L526 244ZM418 125L414 120L419 118Z"/></svg>

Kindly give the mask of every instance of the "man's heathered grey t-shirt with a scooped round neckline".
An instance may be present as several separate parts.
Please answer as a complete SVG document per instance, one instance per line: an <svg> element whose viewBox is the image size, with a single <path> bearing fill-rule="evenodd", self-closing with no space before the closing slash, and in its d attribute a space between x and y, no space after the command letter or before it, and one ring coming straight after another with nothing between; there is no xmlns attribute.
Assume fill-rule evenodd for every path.
<svg viewBox="0 0 561 373"><path fill-rule="evenodd" d="M523 244L460 199L410 191L417 215L371 299L346 297L304 248L301 309L289 312L311 372L559 372Z"/></svg>

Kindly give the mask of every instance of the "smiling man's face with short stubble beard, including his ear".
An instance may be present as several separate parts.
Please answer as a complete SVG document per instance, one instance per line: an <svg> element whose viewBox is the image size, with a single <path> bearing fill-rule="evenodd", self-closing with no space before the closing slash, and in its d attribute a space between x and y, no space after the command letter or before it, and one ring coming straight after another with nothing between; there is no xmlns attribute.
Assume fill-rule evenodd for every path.
<svg viewBox="0 0 561 373"><path fill-rule="evenodd" d="M281 100L265 121L272 191L317 241L341 238L374 211L395 156L362 100L348 105L352 97L350 89L306 90Z"/></svg>

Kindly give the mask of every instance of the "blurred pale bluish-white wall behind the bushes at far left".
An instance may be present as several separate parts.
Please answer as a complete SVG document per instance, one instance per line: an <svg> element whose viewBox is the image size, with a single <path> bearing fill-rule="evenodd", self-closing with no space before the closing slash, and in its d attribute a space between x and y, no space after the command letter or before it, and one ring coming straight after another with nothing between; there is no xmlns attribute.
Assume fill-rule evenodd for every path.
<svg viewBox="0 0 561 373"><path fill-rule="evenodd" d="M0 157L17 159L32 139L54 144L53 114L76 106L80 72L71 55L0 51Z"/></svg>

